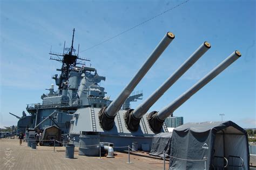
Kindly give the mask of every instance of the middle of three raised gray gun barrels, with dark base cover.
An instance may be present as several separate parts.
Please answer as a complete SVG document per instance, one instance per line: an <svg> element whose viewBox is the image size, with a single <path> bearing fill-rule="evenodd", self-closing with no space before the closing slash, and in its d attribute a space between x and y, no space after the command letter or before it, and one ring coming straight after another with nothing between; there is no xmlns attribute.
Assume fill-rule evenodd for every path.
<svg viewBox="0 0 256 170"><path fill-rule="evenodd" d="M124 115L126 127L130 131L138 131L140 119L149 111L150 107L163 96L163 94L194 64L197 60L210 49L210 43L204 42L199 48L156 90L140 104L135 110L130 109Z"/></svg>

